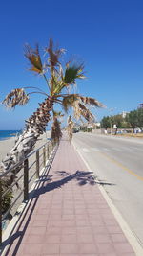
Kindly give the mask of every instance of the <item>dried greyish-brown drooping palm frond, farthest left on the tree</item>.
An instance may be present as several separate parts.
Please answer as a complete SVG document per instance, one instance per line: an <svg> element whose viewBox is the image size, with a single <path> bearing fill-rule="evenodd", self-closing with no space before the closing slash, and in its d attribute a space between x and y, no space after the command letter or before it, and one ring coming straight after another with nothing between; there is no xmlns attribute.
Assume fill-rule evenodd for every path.
<svg viewBox="0 0 143 256"><path fill-rule="evenodd" d="M7 107L14 107L16 105L25 105L29 101L29 96L26 94L23 88L17 88L12 90L4 99L2 104Z"/></svg>

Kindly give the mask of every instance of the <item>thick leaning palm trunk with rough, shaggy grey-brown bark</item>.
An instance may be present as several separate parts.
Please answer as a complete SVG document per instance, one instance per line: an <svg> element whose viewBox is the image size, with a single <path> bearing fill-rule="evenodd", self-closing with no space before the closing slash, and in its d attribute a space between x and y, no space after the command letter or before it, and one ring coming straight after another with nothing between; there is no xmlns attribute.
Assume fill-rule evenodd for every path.
<svg viewBox="0 0 143 256"><path fill-rule="evenodd" d="M52 105L51 97L48 97L42 104L39 104L39 108L26 120L26 127L23 133L19 135L10 153L7 154L1 163L1 171L9 170L33 150L38 137L46 131L46 126L51 117ZM20 169L21 166L13 170L13 175L15 176ZM11 175L10 179L13 180Z"/></svg>

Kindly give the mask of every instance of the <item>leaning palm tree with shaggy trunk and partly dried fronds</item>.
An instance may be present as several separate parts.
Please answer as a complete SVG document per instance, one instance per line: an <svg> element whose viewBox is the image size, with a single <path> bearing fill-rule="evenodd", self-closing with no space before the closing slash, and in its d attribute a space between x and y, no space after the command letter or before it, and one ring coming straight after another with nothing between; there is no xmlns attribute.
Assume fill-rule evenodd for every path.
<svg viewBox="0 0 143 256"><path fill-rule="evenodd" d="M37 87L16 88L3 101L3 104L7 107L14 108L16 105L26 105L31 94L39 93L45 96L45 100L39 104L36 111L26 120L23 133L18 137L14 147L2 161L2 171L9 170L33 150L37 138L45 132L51 115L53 116L52 138L59 140L62 134L58 116L54 111L54 105L61 105L65 112L68 112L69 108L72 108L75 118L83 116L90 122L94 120L94 117L87 105L103 106L93 98L83 97L70 92L77 79L85 78L83 64L75 64L75 62L69 61L63 67L60 58L65 50L54 49L52 39L50 39L49 46L45 49L45 52L48 54L48 58L45 55L46 60L43 62L38 45L36 45L35 49L32 49L30 45L26 45L25 47L25 56L31 64L30 70L43 77L47 85L46 91L42 91ZM19 170L16 169L14 175Z"/></svg>

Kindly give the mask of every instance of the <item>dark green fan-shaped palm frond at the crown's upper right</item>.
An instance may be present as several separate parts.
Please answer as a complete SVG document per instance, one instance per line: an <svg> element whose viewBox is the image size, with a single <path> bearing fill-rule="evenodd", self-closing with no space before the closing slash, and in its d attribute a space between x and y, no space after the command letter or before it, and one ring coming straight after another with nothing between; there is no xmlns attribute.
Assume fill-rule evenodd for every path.
<svg viewBox="0 0 143 256"><path fill-rule="evenodd" d="M63 78L63 81L66 84L75 84L76 79L84 79L83 75L83 69L84 66L81 65L67 65L67 68L65 70L65 76Z"/></svg>

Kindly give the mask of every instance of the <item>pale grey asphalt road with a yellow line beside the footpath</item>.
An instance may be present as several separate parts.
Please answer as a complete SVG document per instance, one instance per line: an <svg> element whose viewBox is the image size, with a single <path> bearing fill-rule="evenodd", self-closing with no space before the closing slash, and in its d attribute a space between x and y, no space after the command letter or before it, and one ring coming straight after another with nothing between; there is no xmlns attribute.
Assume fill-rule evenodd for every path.
<svg viewBox="0 0 143 256"><path fill-rule="evenodd" d="M73 144L143 246L143 140L79 132Z"/></svg>

